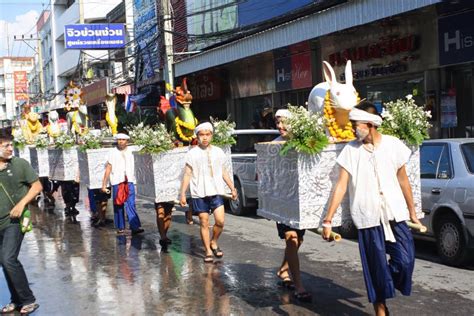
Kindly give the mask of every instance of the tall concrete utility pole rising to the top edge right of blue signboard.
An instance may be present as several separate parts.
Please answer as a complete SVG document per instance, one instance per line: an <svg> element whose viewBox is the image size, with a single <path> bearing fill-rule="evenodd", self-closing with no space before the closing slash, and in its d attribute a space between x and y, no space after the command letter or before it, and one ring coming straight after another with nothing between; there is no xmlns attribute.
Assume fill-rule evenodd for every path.
<svg viewBox="0 0 474 316"><path fill-rule="evenodd" d="M171 4L169 0L161 0L161 8L163 10L163 39L165 42L165 65L163 67L163 79L166 83L174 88L174 71L173 71L173 33L171 27ZM169 92L166 91L166 97Z"/></svg>

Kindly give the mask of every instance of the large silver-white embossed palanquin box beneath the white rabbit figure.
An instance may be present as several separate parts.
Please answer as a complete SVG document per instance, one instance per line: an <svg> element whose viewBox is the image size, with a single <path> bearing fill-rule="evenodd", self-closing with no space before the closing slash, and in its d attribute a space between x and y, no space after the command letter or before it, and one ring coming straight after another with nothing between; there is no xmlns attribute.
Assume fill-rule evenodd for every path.
<svg viewBox="0 0 474 316"><path fill-rule="evenodd" d="M345 143L330 144L318 155L290 151L280 155L281 143L256 144L258 185L257 214L288 226L307 229L320 226L339 176L336 158ZM414 148L407 164L415 207L421 212L420 154ZM333 218L333 226L350 221L346 194Z"/></svg>

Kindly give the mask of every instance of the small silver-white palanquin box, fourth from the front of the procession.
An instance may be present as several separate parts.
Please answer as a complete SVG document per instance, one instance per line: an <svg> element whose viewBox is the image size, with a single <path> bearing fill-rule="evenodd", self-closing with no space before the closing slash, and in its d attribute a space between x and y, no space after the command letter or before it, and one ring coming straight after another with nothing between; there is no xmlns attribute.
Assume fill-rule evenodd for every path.
<svg viewBox="0 0 474 316"><path fill-rule="evenodd" d="M58 181L79 180L77 149L48 149L49 178Z"/></svg>

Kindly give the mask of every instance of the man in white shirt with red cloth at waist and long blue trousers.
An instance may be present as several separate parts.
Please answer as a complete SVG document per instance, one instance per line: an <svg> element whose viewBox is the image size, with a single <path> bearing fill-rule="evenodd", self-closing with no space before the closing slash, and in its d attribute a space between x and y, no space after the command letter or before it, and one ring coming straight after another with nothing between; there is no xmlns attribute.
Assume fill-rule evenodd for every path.
<svg viewBox="0 0 474 316"><path fill-rule="evenodd" d="M117 234L125 233L125 214L127 212L128 223L132 235L143 233L140 218L135 205L135 165L132 151L128 148L130 137L119 133L115 135L117 147L110 151L105 167L104 179L102 180L102 192L107 192L107 184L110 178L112 196L114 201L114 222ZM117 204L117 196L120 189L128 188L128 197L123 204Z"/></svg>

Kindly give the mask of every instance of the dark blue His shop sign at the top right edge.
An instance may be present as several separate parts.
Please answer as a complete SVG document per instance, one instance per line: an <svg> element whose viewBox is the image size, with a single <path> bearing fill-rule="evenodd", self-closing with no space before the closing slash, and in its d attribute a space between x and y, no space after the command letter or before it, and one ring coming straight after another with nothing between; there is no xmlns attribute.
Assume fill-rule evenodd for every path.
<svg viewBox="0 0 474 316"><path fill-rule="evenodd" d="M439 64L474 60L474 11L438 19Z"/></svg>

